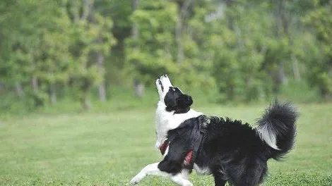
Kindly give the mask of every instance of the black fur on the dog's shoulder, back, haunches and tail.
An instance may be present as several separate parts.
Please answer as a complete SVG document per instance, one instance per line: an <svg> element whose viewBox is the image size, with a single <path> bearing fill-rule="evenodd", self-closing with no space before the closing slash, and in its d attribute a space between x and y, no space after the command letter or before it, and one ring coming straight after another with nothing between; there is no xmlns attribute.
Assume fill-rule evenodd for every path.
<svg viewBox="0 0 332 186"><path fill-rule="evenodd" d="M290 104L275 102L259 119L259 125L270 125L273 129L280 151L261 140L256 129L248 123L242 124L240 120L230 118L209 119L208 125L202 125L202 116L191 118L168 132L170 147L158 165L161 171L172 174L182 171L186 168L183 165L186 153L199 145L194 161L198 167L211 171L215 185L230 182L238 186L255 186L263 182L268 159L282 156L294 143L297 113ZM202 130L200 126L206 128ZM203 138L198 142L202 134Z"/></svg>

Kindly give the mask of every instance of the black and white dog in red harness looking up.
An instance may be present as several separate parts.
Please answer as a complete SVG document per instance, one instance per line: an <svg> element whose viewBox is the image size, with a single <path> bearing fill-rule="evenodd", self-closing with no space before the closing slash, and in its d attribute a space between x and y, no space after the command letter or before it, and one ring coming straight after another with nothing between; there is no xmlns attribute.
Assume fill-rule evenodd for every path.
<svg viewBox="0 0 332 186"><path fill-rule="evenodd" d="M207 117L190 109L193 101L174 87L167 75L156 80L160 101L156 111L156 147L164 155L146 166L131 183L146 175L170 176L178 185L193 185L189 174L212 174L215 185L259 185L267 172L268 159L280 159L294 144L297 111L278 101L257 123Z"/></svg>

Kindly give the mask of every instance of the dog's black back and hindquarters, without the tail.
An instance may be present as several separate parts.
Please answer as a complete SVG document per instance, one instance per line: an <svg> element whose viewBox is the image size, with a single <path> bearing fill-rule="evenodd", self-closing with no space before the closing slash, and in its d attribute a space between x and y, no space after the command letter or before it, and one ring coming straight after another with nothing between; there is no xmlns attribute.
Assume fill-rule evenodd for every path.
<svg viewBox="0 0 332 186"><path fill-rule="evenodd" d="M257 185L267 171L265 149L266 144L247 123L212 117L195 163L208 168L219 185L226 181Z"/></svg>

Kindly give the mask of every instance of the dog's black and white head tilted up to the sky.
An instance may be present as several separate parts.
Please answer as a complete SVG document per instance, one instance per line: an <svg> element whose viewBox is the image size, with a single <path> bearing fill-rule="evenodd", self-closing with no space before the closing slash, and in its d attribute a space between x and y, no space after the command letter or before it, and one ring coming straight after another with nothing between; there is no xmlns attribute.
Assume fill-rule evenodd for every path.
<svg viewBox="0 0 332 186"><path fill-rule="evenodd" d="M189 95L183 94L181 89L174 87L167 75L162 75L155 81L160 101L166 105L166 111L186 113L190 110L193 100Z"/></svg>

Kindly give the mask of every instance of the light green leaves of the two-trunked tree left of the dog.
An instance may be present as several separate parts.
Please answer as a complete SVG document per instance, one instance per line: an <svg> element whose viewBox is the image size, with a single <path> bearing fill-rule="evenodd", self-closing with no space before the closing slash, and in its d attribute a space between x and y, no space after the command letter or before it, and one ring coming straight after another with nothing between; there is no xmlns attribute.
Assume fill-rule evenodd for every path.
<svg viewBox="0 0 332 186"><path fill-rule="evenodd" d="M84 92L84 86L88 88L97 85L104 76L104 72L97 69L95 56L97 54L107 56L110 47L115 44L115 39L110 34L112 20L95 15L95 23L79 20L71 24L73 25L69 36L73 41L70 47L72 60L75 62L70 73Z"/></svg>

